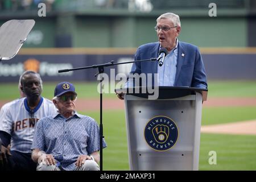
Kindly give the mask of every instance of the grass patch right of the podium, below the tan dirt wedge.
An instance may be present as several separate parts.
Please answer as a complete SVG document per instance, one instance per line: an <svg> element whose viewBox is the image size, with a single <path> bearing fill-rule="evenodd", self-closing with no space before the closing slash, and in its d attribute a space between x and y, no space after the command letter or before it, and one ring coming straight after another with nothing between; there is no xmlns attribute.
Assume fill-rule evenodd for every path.
<svg viewBox="0 0 256 182"><path fill-rule="evenodd" d="M201 134L200 170L256 170L255 135ZM217 152L217 164L210 165L209 151Z"/></svg>

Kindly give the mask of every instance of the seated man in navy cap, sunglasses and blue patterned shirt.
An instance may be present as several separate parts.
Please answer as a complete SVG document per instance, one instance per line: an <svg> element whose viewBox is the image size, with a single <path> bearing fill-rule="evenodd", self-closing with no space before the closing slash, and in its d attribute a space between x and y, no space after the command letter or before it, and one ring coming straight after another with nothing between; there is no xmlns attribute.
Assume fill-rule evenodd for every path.
<svg viewBox="0 0 256 182"><path fill-rule="evenodd" d="M31 149L32 160L39 163L37 170L98 171L100 131L96 121L75 111L77 93L71 83L57 84L54 96L59 113L36 125Z"/></svg>

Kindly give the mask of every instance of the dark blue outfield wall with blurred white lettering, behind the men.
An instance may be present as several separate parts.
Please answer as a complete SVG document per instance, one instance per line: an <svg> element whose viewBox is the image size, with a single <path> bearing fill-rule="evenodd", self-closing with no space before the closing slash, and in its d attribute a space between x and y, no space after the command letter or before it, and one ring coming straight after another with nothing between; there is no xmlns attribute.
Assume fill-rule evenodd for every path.
<svg viewBox="0 0 256 182"><path fill-rule="evenodd" d="M67 73L58 73L59 69L86 67L89 65L108 63L114 60L133 60L134 53L102 53L102 54L21 54L11 60L0 62L0 82L17 82L23 71L38 71L43 81L96 81L97 69L86 69ZM202 53L205 69L209 80L254 80L256 79L255 53ZM127 73L131 64L115 65L105 68L110 76L110 68L117 73Z"/></svg>

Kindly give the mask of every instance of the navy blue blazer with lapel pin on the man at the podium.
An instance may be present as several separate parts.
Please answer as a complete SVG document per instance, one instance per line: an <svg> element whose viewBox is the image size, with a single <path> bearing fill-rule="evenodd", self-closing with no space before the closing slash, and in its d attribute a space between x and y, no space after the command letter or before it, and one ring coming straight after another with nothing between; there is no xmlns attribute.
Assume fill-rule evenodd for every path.
<svg viewBox="0 0 256 182"><path fill-rule="evenodd" d="M135 53L134 60L158 57L159 46L159 42L140 46ZM144 61L133 63L130 73L153 73L154 81L154 73L157 72L158 61ZM178 44L177 70L174 86L189 86L207 89L207 76L205 75L204 63L199 49L192 44L184 42L179 42Z"/></svg>

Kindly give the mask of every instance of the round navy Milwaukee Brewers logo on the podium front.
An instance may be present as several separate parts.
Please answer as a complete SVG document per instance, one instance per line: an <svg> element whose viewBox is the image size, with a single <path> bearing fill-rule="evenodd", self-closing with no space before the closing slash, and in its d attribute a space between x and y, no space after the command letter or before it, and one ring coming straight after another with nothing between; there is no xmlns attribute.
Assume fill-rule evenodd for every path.
<svg viewBox="0 0 256 182"><path fill-rule="evenodd" d="M157 116L147 123L144 130L147 144L156 151L169 150L177 141L178 129L171 118Z"/></svg>

